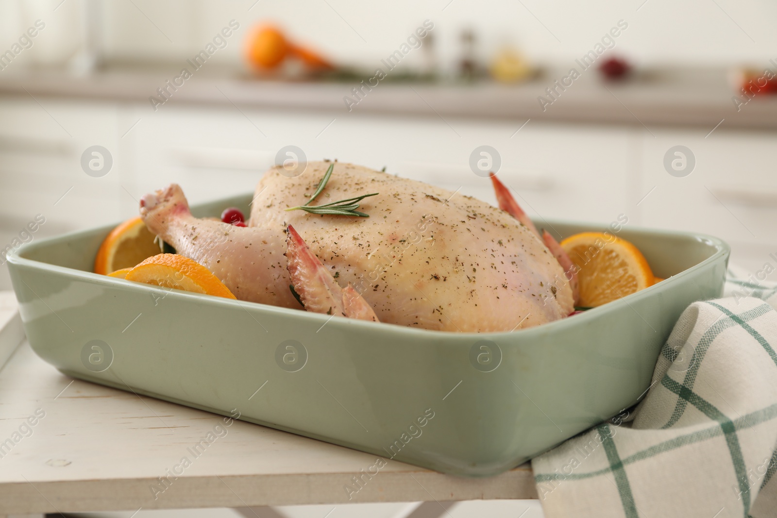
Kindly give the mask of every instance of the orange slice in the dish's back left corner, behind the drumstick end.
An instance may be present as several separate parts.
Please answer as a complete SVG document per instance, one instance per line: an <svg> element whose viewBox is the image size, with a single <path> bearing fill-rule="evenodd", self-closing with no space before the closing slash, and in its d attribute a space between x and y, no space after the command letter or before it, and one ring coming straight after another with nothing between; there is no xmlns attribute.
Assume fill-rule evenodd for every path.
<svg viewBox="0 0 777 518"><path fill-rule="evenodd" d="M140 217L124 221L103 240L95 258L95 273L107 275L117 269L131 268L160 252L153 235Z"/></svg>

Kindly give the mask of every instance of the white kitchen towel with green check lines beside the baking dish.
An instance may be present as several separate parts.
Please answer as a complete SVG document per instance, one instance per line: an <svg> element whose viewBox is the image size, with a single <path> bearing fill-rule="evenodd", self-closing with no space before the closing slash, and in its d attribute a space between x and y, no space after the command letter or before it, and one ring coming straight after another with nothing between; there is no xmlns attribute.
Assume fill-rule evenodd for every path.
<svg viewBox="0 0 777 518"><path fill-rule="evenodd" d="M777 287L691 304L636 409L531 461L547 518L777 516Z"/></svg>

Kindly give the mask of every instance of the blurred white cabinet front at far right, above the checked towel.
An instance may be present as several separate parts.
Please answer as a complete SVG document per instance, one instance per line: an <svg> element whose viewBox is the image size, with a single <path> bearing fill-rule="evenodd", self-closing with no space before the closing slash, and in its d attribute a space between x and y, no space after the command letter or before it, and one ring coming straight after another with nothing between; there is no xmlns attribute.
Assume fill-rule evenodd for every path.
<svg viewBox="0 0 777 518"><path fill-rule="evenodd" d="M709 137L692 130L653 133L643 136L643 224L702 231L732 244L777 245L777 135L722 128ZM688 176L671 176L664 167L675 145L695 157Z"/></svg>

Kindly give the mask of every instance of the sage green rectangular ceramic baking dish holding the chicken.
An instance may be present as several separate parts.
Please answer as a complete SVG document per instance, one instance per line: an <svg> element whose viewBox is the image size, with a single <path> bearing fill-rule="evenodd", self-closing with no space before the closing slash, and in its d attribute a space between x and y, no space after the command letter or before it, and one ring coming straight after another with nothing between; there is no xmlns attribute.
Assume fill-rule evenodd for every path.
<svg viewBox="0 0 777 518"><path fill-rule="evenodd" d="M193 212L247 209L250 199ZM543 222L550 225L562 237L601 228ZM513 468L633 405L681 312L722 293L729 256L717 238L626 226L618 235L657 276L671 278L559 322L479 335L100 276L92 262L112 227L32 242L9 256L27 336L44 360L72 377L240 412L455 475Z"/></svg>

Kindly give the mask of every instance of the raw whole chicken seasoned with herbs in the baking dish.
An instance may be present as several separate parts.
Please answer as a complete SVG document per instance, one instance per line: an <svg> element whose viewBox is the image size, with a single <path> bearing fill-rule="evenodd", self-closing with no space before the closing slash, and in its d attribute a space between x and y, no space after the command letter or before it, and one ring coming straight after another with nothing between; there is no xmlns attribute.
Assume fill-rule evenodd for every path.
<svg viewBox="0 0 777 518"><path fill-rule="evenodd" d="M573 311L569 258L495 176L501 209L335 162L312 205L378 193L358 208L369 217L285 210L303 205L330 165L308 162L294 178L267 171L245 228L193 217L176 184L143 196L141 217L243 301L453 332L509 332Z"/></svg>

